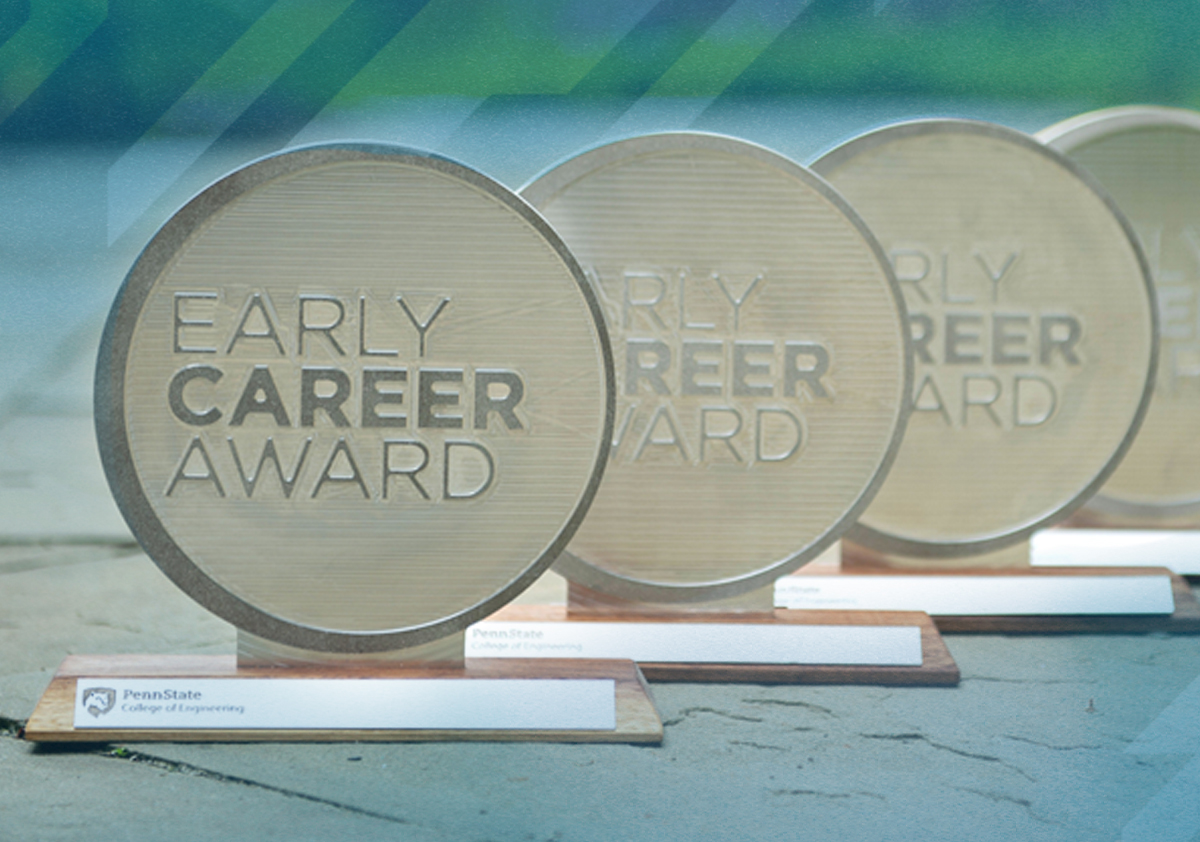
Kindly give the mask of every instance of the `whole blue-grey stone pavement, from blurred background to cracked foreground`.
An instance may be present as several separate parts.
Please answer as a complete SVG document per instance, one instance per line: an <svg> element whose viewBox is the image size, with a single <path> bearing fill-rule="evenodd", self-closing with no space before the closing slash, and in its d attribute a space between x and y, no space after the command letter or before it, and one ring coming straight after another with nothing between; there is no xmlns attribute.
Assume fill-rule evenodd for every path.
<svg viewBox="0 0 1200 842"><path fill-rule="evenodd" d="M644 125L634 109L622 131L726 131L803 158L883 119L990 115L889 108L841 108L841 122L760 108ZM826 134L790 133L817 122ZM314 124L300 139L403 140L401 128ZM422 145L514 186L572 151L541 136L473 146L451 128ZM520 157L532 146L546 160ZM18 739L68 654L234 646L233 630L132 543L98 469L90 373L104 309L137 249L199 186L167 178L173 187L137 204L126 194L142 182L121 174L152 161L122 169L119 157L0 156L0 841L1200 840L1200 637L950 636L954 688L656 684L666 736L655 747Z"/></svg>

